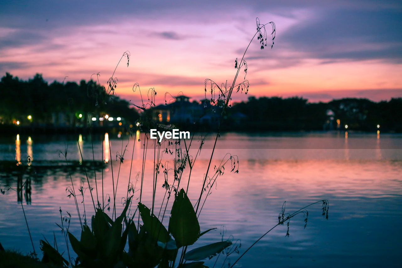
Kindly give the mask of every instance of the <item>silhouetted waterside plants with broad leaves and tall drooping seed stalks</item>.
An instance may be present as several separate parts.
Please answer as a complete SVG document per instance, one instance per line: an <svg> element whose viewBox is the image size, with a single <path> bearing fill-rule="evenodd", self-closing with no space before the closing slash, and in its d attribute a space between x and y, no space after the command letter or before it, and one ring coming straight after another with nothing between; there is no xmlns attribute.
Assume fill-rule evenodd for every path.
<svg viewBox="0 0 402 268"><path fill-rule="evenodd" d="M266 26L271 27L270 34L267 34ZM232 254L240 254L241 243L240 239L234 240L234 237L232 236L230 236L229 239L224 239L224 233L226 232L224 227L221 228L221 239L217 239L215 243L197 247L190 251L187 250L188 246L195 244L202 235L216 229L212 227L211 229L202 231L198 220L207 198L211 194L211 188L216 185L219 176L224 175L225 172L238 173L239 170L239 157L237 155L227 153L218 165L213 165L212 162L217 140L220 136L222 122L227 110L231 107L232 95L239 91L245 94L248 93L249 82L246 80L248 72L248 65L245 60L246 52L255 38L260 42L261 49L264 49L269 45L271 45L272 48L275 34L275 23L269 22L266 24L260 24L260 21L257 18L256 33L248 43L242 58L240 60L236 58L234 62L236 72L232 83L230 85L228 85L227 82L218 84L209 78L205 80L205 106L207 104L211 105L211 112L219 113L219 122L217 125L217 131L214 134L213 147L209 152L210 157L207 161L208 165L205 167L205 174L202 183L199 185L199 194L197 194L197 200L194 204L190 201L188 192L190 182L196 184L197 181L192 180L191 175L195 164L198 163L197 157L199 157L201 150L205 150L203 144L207 137L202 136L198 144L195 141L194 132L189 140L163 140L162 142L151 140L149 135L150 129L170 129L172 126L159 124L159 122L154 120L150 113L149 108L156 106L155 97L157 93L155 89L149 89L146 92L146 96L143 96L139 84L135 83L133 85L133 91L139 94L141 103L134 105L141 111L141 117L135 126L128 128L129 132L131 132L129 139L133 139L133 153L131 154L129 174L124 174L125 177L128 177L127 185L122 186L121 183L119 183L119 177L122 175L120 173L121 165L124 161L127 161L127 159L125 159L125 152L127 150L128 142L125 145L122 139L120 152L116 154L117 166L116 162L112 161L113 156L110 140L105 140L105 143L102 142L102 154L103 146L109 147L108 157L110 157L111 160L109 164L112 174L111 183L113 186L113 196L110 196L105 193L105 184L109 182L104 181L103 169L101 171L101 185L98 185L96 181L93 139L92 132L89 131L92 145L92 161L94 163L93 171L95 186L90 184L90 179L88 178L88 172L92 171L87 171L87 165L83 165L86 181L83 181L80 186L74 185L70 173L69 177L71 186L66 188L68 197L73 197L74 200L81 229L80 237L78 239L70 232L70 219L72 218L72 215L68 213L68 216L63 216L62 208L60 208L59 213L61 224L57 223L57 226L61 229L62 234L64 235L64 240L68 249L68 260L59 253L54 238L53 245L51 245L51 243L46 239L41 240L41 250L43 252L42 261L57 266L68 267L157 266L159 268L189 268L207 267L203 260L217 256L215 257L216 260L213 265L215 267L215 265L218 264L218 259L222 260L219 256L224 256L224 259L221 261L222 267L233 267L242 256L244 256L244 254L255 245L255 243L275 227L286 223L286 235L289 235L290 220L301 213L304 214L305 223L307 223L308 211L306 208L309 206L322 202L323 215L328 219L329 205L327 200L314 202L290 214L285 212L284 203L278 216L277 225L262 235L257 241L255 241L255 243L250 245L233 263L230 261L230 256L232 256ZM270 36L270 38L268 38L268 36ZM117 66L125 57L127 57L127 66L129 65L130 53L124 52ZM100 86L99 73L95 74L98 86L102 91L96 93L90 92L88 86L88 94L95 94L97 97L96 105L111 101L111 96L115 94L115 89L117 88L117 78L115 77L117 66L113 71L112 76L107 81L107 87ZM239 76L242 77L241 82L238 82ZM165 103L167 103L168 101L166 97L168 94L165 94L164 96ZM90 123L91 122L88 122L88 124ZM89 126L89 128L91 129L91 126ZM142 140L137 137L138 131L144 133L144 138ZM134 136L132 136L132 134L134 134ZM80 152L80 161L84 163L86 160L82 156L82 148L78 140L77 144ZM133 174L135 146L142 146L143 148L142 163L140 167L141 171L136 175ZM191 155L191 148L194 147L197 148L196 153L195 155ZM63 157L66 165L68 165L68 147L66 146L64 151L58 150L58 153L59 157ZM146 160L147 155L149 155L148 153L153 153L152 174L146 174ZM171 157L172 160L164 161L164 157L166 156ZM102 155L102 159L103 157L104 156ZM117 177L114 176L113 169L117 171ZM183 176L183 171L185 171L185 169L189 170L188 177ZM144 184L147 179L151 178L152 202L150 204L144 204ZM164 195L157 196L157 187L161 184L164 189ZM126 194L122 197L123 210L120 214L117 213L117 207L119 204L116 202L116 199L118 198L117 189L119 187L124 187L126 189ZM86 194L87 191L89 191L89 195ZM3 190L2 193L4 193ZM85 203L88 204L88 202L85 202L87 201L86 198L90 198L90 212L85 209ZM101 202L99 198L101 198ZM135 198L138 200L137 204L133 204ZM160 204L157 203L159 201ZM80 203L82 203L82 206L80 206ZM170 218L169 222L166 223L164 222L164 219L166 212L168 212L168 208L171 208ZM112 210L111 216L109 216L110 209ZM87 221L86 217L88 213L93 213L90 219L90 226L88 225L89 221ZM72 252L70 252L70 248L74 251L77 257L73 256ZM36 254L34 247L33 253Z"/></svg>

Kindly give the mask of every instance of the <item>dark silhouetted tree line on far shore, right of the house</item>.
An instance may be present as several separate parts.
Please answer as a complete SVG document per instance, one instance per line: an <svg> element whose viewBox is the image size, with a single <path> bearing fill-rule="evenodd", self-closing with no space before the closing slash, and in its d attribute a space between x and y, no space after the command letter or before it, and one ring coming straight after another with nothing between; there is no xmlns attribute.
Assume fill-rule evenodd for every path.
<svg viewBox="0 0 402 268"><path fill-rule="evenodd" d="M240 115L245 115L240 116ZM337 120L340 120L338 125ZM402 98L378 103L368 99L337 99L308 103L291 97L249 97L229 110L225 127L237 130L345 129L402 131Z"/></svg>

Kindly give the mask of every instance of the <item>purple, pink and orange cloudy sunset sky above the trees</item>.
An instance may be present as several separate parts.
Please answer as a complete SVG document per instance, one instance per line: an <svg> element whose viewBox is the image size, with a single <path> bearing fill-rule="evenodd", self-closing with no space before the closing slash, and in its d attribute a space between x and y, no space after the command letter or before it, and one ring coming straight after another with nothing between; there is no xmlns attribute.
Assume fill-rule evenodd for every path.
<svg viewBox="0 0 402 268"><path fill-rule="evenodd" d="M310 101L402 97L400 1L3 1L0 74L22 79L105 84L121 55L116 93L131 88L204 94L204 80L231 82L256 31L274 21L273 49L253 41L246 61L249 95ZM269 31L271 27L267 28ZM269 32L270 33L270 32ZM268 33L268 34L269 34ZM93 76L94 77L94 76ZM96 76L95 76L96 77ZM241 82L241 81L238 81ZM234 99L246 99L237 95Z"/></svg>

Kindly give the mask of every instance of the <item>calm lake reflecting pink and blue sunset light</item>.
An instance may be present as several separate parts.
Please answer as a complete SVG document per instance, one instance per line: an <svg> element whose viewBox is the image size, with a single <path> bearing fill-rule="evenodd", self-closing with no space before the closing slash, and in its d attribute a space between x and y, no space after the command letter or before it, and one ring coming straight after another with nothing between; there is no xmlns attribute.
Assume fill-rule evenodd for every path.
<svg viewBox="0 0 402 268"><path fill-rule="evenodd" d="M143 142L144 134L138 134ZM135 135L134 135L135 136ZM78 140L78 142L77 142ZM106 140L106 141L105 141ZM197 153L199 137L195 136L190 154ZM111 151L103 144L110 141ZM205 140L191 174L188 196L197 201L206 172L214 138ZM80 157L80 150L84 162ZM127 145L127 147L126 147ZM188 145L188 144L187 144ZM93 146L93 150L92 150ZM182 142L182 146L184 146ZM57 150L65 152L67 163ZM116 153L124 153L124 161ZM93 152L93 154L92 154ZM236 264L236 267L339 267L339 266L400 266L402 257L402 135L358 132L306 133L226 133L221 134L213 155L215 165L231 153L239 159L238 173L230 172L231 163L211 187L199 216L201 231L217 228L203 235L189 249L226 239L241 239L240 254L278 222L283 202L286 212L292 213L318 200L329 200L328 220L322 216L321 204L308 208L304 228L303 214L297 215L287 227L278 226L268 233ZM32 157L27 167L27 155ZM133 165L131 167L131 155ZM0 183L6 190L0 195L0 241L5 248L29 253L31 241L18 195L7 186L18 188L17 161L26 168L22 180L31 177L31 195L22 194L23 208L36 252L39 240L53 244L53 233L61 251L66 249L60 228L60 212L72 215L70 231L79 236L80 225L76 206L68 198L66 188L71 180L76 188L84 187L84 211L90 223L94 209L88 188L98 188L98 200L113 201L113 185L119 174L117 210L122 210L128 179L135 182L142 170L144 146L139 142L133 149L133 139L120 134L90 136L27 136L0 139ZM174 156L163 155L162 164L173 167ZM152 206L154 144L148 143L144 171L142 202ZM168 164L165 161L169 161ZM95 162L95 164L94 164ZM237 162L235 163L237 165ZM131 176L130 176L131 169ZM237 166L235 167L235 170ZM113 179L112 179L113 170ZM188 169L183 172L187 187ZM29 175L30 174L30 175ZM140 173L139 173L140 174ZM71 179L70 179L71 175ZM141 175L139 175L141 177ZM102 202L102 177L104 183ZM173 175L168 177L172 179ZM156 182L156 199L164 198L162 171ZM136 187L139 187L140 181ZM23 191L24 192L24 191ZM92 192L96 202L96 190ZM139 198L135 192L134 198ZM138 202L139 200L134 200ZM155 210L159 212L160 203ZM112 214L113 206L109 214ZM135 209L132 209L131 213ZM157 214L157 213L156 213ZM163 223L167 226L168 207ZM224 230L224 233L222 231ZM41 254L39 254L41 255ZM63 255L66 256L66 253ZM230 255L233 263L238 254ZM41 257L41 256L40 256ZM215 267L222 265L219 256ZM206 264L213 266L216 257ZM219 264L220 263L220 264Z"/></svg>

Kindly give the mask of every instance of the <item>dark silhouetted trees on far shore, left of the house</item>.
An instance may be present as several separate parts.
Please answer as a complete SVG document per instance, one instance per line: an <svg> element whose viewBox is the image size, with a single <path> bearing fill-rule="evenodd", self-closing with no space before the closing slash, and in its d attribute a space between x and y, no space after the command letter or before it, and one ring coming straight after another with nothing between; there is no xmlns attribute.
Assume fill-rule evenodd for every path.
<svg viewBox="0 0 402 268"><path fill-rule="evenodd" d="M135 122L137 111L129 107L129 102L116 96L109 96L105 89L90 80L50 85L41 74L24 81L6 73L0 80L0 117L3 122L27 120L32 115L33 122L51 122L52 113L108 113L120 116L127 122ZM84 117L83 117L84 118ZM84 120L86 124L86 120Z"/></svg>

